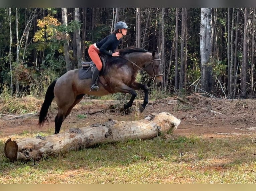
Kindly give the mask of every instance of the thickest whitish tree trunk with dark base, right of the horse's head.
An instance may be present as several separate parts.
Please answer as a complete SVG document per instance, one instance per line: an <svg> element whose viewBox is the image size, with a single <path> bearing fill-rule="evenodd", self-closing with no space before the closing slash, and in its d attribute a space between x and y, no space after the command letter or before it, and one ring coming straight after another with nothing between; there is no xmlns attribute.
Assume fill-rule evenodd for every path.
<svg viewBox="0 0 256 191"><path fill-rule="evenodd" d="M201 8L200 54L202 89L208 93L212 91L212 8Z"/></svg>

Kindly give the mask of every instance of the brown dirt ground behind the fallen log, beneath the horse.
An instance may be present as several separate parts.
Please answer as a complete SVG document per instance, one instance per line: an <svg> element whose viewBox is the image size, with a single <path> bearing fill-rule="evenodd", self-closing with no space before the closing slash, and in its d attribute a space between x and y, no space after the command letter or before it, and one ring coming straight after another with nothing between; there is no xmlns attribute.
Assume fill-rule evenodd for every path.
<svg viewBox="0 0 256 191"><path fill-rule="evenodd" d="M119 121L139 120L150 113L168 112L181 120L174 135L199 135L204 137L223 137L253 135L256 131L256 100L218 99L199 94L168 97L150 101L143 113L134 105L127 113L120 112L122 101L83 99L74 107L71 114L62 123L60 132L72 127L85 127L103 123L110 118ZM116 107L118 106L118 107ZM40 109L40 108L39 108ZM20 133L47 131L54 133L55 102L49 111L49 124L40 129L37 125L39 109L36 114L0 115L0 137L8 138ZM83 118L84 116L84 118Z"/></svg>

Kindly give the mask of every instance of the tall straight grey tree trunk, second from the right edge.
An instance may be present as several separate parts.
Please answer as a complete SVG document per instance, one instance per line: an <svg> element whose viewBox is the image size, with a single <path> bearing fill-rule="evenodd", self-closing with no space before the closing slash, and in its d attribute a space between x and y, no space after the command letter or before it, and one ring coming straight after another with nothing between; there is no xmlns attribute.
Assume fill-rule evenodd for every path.
<svg viewBox="0 0 256 191"><path fill-rule="evenodd" d="M246 96L246 66L247 66L247 8L244 9L244 40L243 40L243 56L241 67L241 96Z"/></svg>

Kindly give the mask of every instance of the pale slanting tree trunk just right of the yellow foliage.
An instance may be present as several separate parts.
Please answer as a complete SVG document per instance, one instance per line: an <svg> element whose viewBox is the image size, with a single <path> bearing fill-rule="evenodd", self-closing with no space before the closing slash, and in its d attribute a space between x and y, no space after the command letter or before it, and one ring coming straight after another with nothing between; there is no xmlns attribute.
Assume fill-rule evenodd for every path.
<svg viewBox="0 0 256 191"><path fill-rule="evenodd" d="M66 27L68 26L68 18L67 18L67 8L61 8L61 14L62 14L62 23ZM66 32L66 41L64 43L64 49L65 49L65 60L66 60L66 69L67 72L71 70L71 61L69 56L69 41L68 41L68 33Z"/></svg>

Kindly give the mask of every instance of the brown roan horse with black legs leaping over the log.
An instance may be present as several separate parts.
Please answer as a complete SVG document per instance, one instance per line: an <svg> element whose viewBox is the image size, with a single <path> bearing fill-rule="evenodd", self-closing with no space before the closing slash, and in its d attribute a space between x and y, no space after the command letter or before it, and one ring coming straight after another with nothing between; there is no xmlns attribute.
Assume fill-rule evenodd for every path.
<svg viewBox="0 0 256 191"><path fill-rule="evenodd" d="M100 81L105 79L102 85L98 81L99 91L90 91L91 79L80 80L79 70L70 70L60 78L53 81L45 94L45 99L39 113L38 125L43 125L47 119L49 106L55 97L58 113L55 117L55 132L59 133L63 120L70 114L72 108L79 103L85 94L102 96L117 92L130 93L131 99L123 105L122 110L132 106L137 93L135 90L144 91L144 101L140 105L142 112L148 103L147 86L137 82L138 70L144 70L154 80L157 86L163 83L159 54L150 53L145 49L128 47L119 50L119 57L111 57L107 60L105 70L101 72Z"/></svg>

